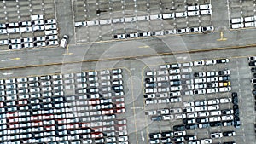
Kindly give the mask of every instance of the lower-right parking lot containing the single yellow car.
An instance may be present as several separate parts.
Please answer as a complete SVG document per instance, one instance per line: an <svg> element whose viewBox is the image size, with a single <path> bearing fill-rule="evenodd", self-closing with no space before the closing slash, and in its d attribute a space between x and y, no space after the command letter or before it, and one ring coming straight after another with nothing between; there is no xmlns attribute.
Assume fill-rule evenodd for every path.
<svg viewBox="0 0 256 144"><path fill-rule="evenodd" d="M244 87L244 89L240 87L240 84L249 85L249 80L244 81L244 78L241 78L241 82L239 78L245 76L244 72L247 72L247 60L242 60L239 63L236 60L229 61L231 64L227 62L198 67L189 66L191 63L183 63L148 66L144 70L144 102L146 103L145 115L149 124L149 143L166 141L187 141L188 143L205 143L206 141L224 143L234 141L236 143L245 143L253 140L253 135L250 135L249 131L253 131L250 127L253 126L255 118L252 116L250 120L248 118L244 119L248 115L253 115L253 107L247 110L242 109L251 106L252 102L246 101L252 101L250 100L252 99L252 94L244 90L248 89L247 87ZM241 69L238 70L229 66L234 64L242 66ZM167 69L163 69L164 66ZM186 70L188 68L189 71ZM207 73L213 74L213 72L217 72L222 76L217 75L217 83L209 84L208 81L213 80L214 76L207 78ZM188 73L190 78L186 79L185 75ZM177 76L177 78L172 79L173 76ZM179 76L180 78L178 78ZM165 77L167 79L164 79ZM207 84L202 84L203 82L201 82L201 86L199 86L196 82L198 77L206 77ZM222 82L220 79L223 78L220 77L229 77L229 80ZM152 82L151 80L155 81ZM192 86L193 83L194 86ZM208 90L210 89L209 87L214 87L217 84L218 89L215 92L212 93L212 90ZM223 84L225 84L225 88L222 87ZM177 89L173 89L175 87ZM223 88L227 91L224 92ZM152 92L151 90L155 91ZM247 92L244 93L245 91ZM198 95L198 92L201 95ZM212 94L209 94L209 92ZM241 92L242 99L247 97L246 99L240 100ZM238 99L235 96L236 93L238 94ZM230 136L227 136L227 132L230 133ZM216 135L222 138L212 137ZM241 136L244 137L244 135L247 138L241 139Z"/></svg>

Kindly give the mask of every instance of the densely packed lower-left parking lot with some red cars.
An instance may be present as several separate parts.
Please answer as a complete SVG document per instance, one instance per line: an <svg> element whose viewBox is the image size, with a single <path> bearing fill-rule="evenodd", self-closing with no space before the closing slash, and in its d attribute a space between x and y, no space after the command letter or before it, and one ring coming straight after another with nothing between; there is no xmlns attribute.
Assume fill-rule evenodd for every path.
<svg viewBox="0 0 256 144"><path fill-rule="evenodd" d="M1 141L128 143L126 75L113 69L0 80Z"/></svg>

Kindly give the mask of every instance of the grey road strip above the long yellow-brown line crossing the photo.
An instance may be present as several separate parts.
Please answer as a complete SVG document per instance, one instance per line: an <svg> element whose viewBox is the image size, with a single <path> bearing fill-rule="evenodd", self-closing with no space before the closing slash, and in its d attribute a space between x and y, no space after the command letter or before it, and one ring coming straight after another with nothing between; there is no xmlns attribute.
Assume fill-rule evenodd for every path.
<svg viewBox="0 0 256 144"><path fill-rule="evenodd" d="M159 55L181 51L196 51L197 49L218 49L224 47L244 46L253 44L256 36L253 31L224 32L227 41L218 42L219 32L185 36L154 37L135 41L119 41L113 43L93 43L70 45L73 55L63 55L66 49L44 48L1 52L0 67L42 65L67 61L98 60L127 58L142 55ZM214 51L213 53L215 53ZM251 53L253 55L253 53ZM9 61L11 58L21 58L19 62ZM50 57L50 59L49 59Z"/></svg>

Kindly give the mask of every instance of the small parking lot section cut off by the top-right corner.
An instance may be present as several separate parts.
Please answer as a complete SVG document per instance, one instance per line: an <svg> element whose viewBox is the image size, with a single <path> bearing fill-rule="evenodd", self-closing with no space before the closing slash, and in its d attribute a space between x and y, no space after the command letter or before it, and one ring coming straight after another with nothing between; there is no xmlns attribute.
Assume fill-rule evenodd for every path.
<svg viewBox="0 0 256 144"><path fill-rule="evenodd" d="M255 2L229 0L230 29L254 28Z"/></svg>

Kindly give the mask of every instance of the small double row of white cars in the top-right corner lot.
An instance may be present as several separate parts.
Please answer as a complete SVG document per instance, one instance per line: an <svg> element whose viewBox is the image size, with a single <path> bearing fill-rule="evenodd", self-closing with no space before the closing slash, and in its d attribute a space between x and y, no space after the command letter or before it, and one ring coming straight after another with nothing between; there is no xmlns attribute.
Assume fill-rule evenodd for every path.
<svg viewBox="0 0 256 144"><path fill-rule="evenodd" d="M231 29L237 28L247 28L247 27L255 27L256 26L256 17L255 16L247 16L241 18L233 18L230 20Z"/></svg>

